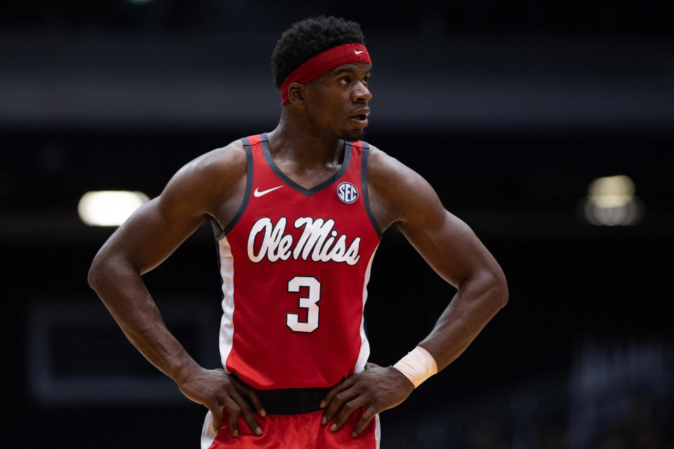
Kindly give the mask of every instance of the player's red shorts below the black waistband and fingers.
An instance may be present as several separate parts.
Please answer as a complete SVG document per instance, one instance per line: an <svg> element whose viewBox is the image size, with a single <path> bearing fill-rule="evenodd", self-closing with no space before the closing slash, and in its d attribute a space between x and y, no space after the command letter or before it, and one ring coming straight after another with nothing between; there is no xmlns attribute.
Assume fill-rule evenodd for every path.
<svg viewBox="0 0 674 449"><path fill-rule="evenodd" d="M359 436L352 438L351 431L364 409L351 414L338 431L329 429L330 422L321 425L323 410L302 415L267 415L256 419L263 428L263 434L253 434L248 424L239 418L239 436L232 438L227 421L227 411L223 415L223 427L213 438L212 417L206 415L201 432L201 449L242 448L242 449L376 449L379 444L379 417L374 417Z"/></svg>

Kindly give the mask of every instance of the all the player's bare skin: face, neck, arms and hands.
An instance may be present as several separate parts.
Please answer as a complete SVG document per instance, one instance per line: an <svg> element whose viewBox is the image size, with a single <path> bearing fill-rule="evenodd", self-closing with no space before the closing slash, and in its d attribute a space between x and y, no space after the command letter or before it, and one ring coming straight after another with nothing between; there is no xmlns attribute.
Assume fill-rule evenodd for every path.
<svg viewBox="0 0 674 449"><path fill-rule="evenodd" d="M291 180L311 188L340 167L343 141L357 140L369 114L370 65L347 64L314 81L293 83L279 125L270 133L270 152ZM262 434L249 399L260 415L256 394L224 370L207 370L187 354L164 325L141 276L169 257L204 220L225 227L237 213L246 187L246 154L237 140L199 156L173 175L161 194L136 210L95 256L88 274L128 340L192 401L211 410L213 426L230 414L232 436L243 417ZM454 298L420 345L440 371L454 361L508 300L503 271L464 222L442 206L423 177L371 146L368 193L381 231L396 227L442 279L457 288ZM161 229L161 233L157 232ZM402 356L403 354L401 354ZM414 386L392 366L366 369L333 387L320 403L323 423L340 429L358 408L365 413L352 429L357 436L383 410L402 403Z"/></svg>

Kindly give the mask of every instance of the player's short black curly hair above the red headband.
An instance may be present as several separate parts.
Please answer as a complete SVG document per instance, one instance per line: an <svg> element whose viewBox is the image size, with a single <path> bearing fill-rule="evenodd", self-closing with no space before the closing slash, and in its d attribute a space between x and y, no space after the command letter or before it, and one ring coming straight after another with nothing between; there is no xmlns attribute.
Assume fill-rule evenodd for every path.
<svg viewBox="0 0 674 449"><path fill-rule="evenodd" d="M315 55L345 43L365 43L357 22L319 15L293 23L281 35L272 53L272 76L277 88L293 72Z"/></svg>

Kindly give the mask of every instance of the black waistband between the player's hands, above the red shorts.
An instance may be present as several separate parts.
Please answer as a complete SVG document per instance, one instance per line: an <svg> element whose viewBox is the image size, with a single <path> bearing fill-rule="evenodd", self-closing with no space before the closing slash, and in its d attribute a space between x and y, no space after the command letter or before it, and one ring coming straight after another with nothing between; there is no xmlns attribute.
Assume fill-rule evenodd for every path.
<svg viewBox="0 0 674 449"><path fill-rule="evenodd" d="M275 390L249 388L258 394L258 398L260 398L265 411L269 415L299 415L301 413L312 413L321 410L318 404L330 391L330 388L285 388ZM244 399L249 403L251 410L255 410L255 407L248 401L246 396L244 396Z"/></svg>

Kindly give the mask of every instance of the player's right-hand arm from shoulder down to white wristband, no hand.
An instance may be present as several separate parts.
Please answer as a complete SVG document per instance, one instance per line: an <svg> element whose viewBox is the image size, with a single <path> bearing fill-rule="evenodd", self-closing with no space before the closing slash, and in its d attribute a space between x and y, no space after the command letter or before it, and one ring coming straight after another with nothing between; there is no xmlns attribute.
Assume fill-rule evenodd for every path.
<svg viewBox="0 0 674 449"><path fill-rule="evenodd" d="M445 210L423 177L382 152L373 156L370 186L377 219L397 227L430 267L458 289L419 344L442 370L508 301L505 275L470 227ZM397 181L385 184L392 173Z"/></svg>

